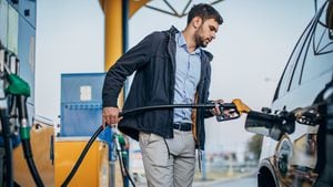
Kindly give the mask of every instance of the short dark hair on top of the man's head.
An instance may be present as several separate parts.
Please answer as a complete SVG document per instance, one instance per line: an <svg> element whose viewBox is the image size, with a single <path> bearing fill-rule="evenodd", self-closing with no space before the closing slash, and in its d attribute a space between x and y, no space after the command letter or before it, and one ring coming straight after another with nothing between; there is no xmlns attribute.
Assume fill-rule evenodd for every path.
<svg viewBox="0 0 333 187"><path fill-rule="evenodd" d="M200 17L203 21L214 19L219 24L223 23L221 14L211 6L206 3L194 4L188 15L188 24L194 17Z"/></svg>

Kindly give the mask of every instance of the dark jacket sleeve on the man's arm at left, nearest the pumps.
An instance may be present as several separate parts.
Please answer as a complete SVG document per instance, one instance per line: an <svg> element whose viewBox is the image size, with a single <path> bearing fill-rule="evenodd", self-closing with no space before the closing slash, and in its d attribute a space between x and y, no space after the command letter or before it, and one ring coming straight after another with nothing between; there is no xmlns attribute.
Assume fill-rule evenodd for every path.
<svg viewBox="0 0 333 187"><path fill-rule="evenodd" d="M118 95L127 76L131 75L135 70L144 66L144 64L149 62L152 37L153 34L145 37L109 69L102 90L103 107L118 107Z"/></svg>

